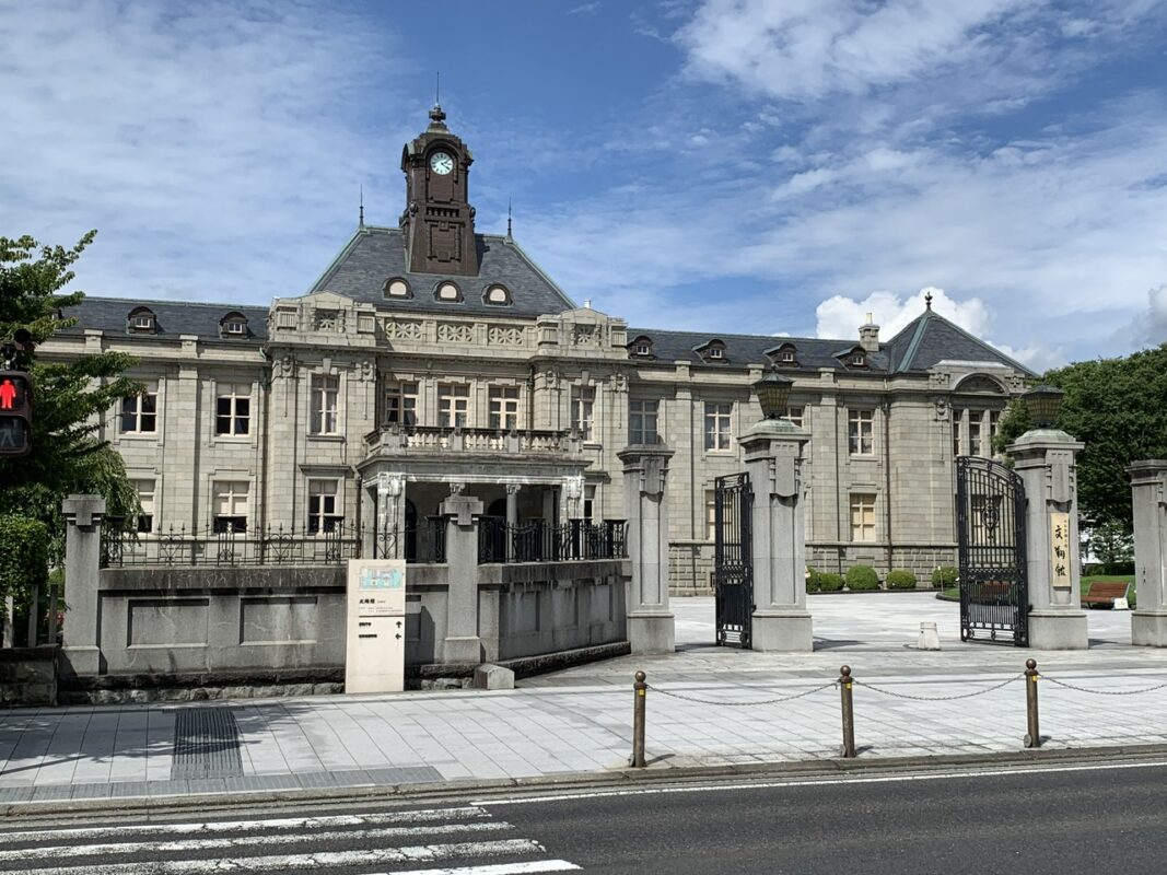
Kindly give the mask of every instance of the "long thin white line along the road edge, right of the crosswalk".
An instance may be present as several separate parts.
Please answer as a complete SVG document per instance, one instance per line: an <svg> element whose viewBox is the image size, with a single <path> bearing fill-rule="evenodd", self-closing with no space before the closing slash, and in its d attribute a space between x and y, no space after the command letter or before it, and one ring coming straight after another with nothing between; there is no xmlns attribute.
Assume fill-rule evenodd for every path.
<svg viewBox="0 0 1167 875"><path fill-rule="evenodd" d="M880 775L878 777L809 778L803 780L750 780L734 784L705 784L701 786L619 788L594 790L586 793L562 793L547 796L524 796L513 799L477 799L475 805L497 807L502 805L532 805L536 803L569 802L573 799L602 799L622 796L664 796L668 793L725 793L734 790L768 790L782 786L829 786L831 784L895 784L908 780L967 780L970 778L995 778L1009 775L1054 775L1075 771L1110 771L1111 769L1162 769L1167 762L1151 763L1099 763L1092 765L1036 765L1020 769L978 769L976 771L952 771L922 775Z"/></svg>

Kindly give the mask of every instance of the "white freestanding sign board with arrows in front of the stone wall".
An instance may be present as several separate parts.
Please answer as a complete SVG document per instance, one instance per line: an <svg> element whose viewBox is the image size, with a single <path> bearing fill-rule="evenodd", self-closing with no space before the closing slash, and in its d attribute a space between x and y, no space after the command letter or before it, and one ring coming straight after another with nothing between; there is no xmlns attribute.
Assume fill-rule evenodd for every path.
<svg viewBox="0 0 1167 875"><path fill-rule="evenodd" d="M404 559L349 560L344 692L405 688Z"/></svg>

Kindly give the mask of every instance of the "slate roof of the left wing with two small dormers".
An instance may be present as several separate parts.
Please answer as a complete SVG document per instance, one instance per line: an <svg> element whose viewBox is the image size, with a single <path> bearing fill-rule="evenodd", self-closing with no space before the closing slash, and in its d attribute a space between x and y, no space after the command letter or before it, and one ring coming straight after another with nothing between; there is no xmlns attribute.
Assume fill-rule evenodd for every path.
<svg viewBox="0 0 1167 875"><path fill-rule="evenodd" d="M147 307L154 314L155 331L130 331L126 328L130 312ZM225 337L231 343L263 343L267 340L267 307L235 307L228 303L191 303L188 301L141 301L128 298L85 298L64 315L77 318L77 324L62 334L78 335L86 328L109 334L135 337L170 337L197 335L204 340L219 340L219 322L229 313L247 317L246 337Z"/></svg>

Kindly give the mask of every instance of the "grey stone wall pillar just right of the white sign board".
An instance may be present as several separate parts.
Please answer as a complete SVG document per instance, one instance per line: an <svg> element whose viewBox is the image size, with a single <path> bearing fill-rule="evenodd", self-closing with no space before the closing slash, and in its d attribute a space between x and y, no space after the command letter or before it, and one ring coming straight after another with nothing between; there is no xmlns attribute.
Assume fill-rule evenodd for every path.
<svg viewBox="0 0 1167 875"><path fill-rule="evenodd" d="M454 484L453 488L461 488ZM478 523L482 501L455 492L441 503L446 517L446 640L443 663L482 663L478 637Z"/></svg>

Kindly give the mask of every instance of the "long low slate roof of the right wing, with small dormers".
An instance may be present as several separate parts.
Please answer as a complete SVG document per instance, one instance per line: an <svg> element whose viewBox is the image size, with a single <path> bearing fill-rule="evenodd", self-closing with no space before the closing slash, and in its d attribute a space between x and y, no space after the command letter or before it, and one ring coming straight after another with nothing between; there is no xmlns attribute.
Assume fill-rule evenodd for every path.
<svg viewBox="0 0 1167 875"><path fill-rule="evenodd" d="M652 341L652 355L665 362L693 362L694 364L706 364L697 354L696 348L719 340L726 345L725 364L708 363L710 368L724 368L728 365L743 364L768 364L769 358L766 350L777 349L785 343L795 346L795 359L801 369L815 368L838 368L846 370L846 366L836 356L851 352L859 345L859 338L847 340L824 340L822 337L784 337L774 335L753 334L698 334L696 331L663 331L656 328L629 328L628 342L634 342L637 337L648 337ZM635 356L634 356L635 358ZM887 356L882 352L872 352L867 356L867 368L865 371L886 371ZM858 369L854 369L858 370Z"/></svg>

